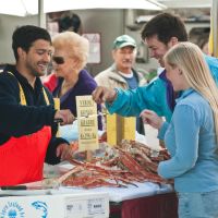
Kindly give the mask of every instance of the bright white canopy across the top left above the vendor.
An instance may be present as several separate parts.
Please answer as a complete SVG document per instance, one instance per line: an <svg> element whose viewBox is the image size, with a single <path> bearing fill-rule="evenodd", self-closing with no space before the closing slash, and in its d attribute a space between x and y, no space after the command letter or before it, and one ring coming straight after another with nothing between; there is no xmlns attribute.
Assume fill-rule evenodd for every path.
<svg viewBox="0 0 218 218"><path fill-rule="evenodd" d="M167 8L156 0L0 0L0 14L16 16L34 15L40 11L48 13L84 9L161 10Z"/></svg>

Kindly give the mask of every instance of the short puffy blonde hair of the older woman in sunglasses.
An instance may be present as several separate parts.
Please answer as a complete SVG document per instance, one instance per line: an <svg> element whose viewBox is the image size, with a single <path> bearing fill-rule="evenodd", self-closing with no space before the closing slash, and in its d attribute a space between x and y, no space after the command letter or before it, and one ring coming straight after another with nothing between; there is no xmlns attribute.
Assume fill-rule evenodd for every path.
<svg viewBox="0 0 218 218"><path fill-rule="evenodd" d="M64 49L69 57L78 61L78 69L82 70L86 63L89 51L89 43L83 36L74 32L63 32L52 38L55 49Z"/></svg>

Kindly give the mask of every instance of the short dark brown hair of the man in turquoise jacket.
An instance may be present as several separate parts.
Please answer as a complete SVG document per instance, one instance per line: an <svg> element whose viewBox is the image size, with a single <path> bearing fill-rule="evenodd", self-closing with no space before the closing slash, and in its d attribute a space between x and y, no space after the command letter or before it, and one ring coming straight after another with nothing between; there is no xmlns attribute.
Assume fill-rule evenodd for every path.
<svg viewBox="0 0 218 218"><path fill-rule="evenodd" d="M142 29L142 39L157 35L158 40L168 44L171 37L187 41L187 33L182 20L170 13L160 13L146 23Z"/></svg>

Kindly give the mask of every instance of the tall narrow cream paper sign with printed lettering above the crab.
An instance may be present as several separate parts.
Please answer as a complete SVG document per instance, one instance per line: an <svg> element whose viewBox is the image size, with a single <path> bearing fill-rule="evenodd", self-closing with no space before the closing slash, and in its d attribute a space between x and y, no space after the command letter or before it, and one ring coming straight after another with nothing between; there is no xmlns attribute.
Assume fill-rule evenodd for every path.
<svg viewBox="0 0 218 218"><path fill-rule="evenodd" d="M78 150L84 152L98 149L97 105L93 100L93 97L76 96L76 110L78 118ZM92 114L96 116L89 117Z"/></svg>

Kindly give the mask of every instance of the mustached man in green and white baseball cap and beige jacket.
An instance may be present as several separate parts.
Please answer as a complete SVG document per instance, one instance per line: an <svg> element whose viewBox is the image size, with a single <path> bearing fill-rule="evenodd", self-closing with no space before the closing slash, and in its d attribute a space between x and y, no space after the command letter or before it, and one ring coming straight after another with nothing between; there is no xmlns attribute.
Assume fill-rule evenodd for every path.
<svg viewBox="0 0 218 218"><path fill-rule="evenodd" d="M112 58L113 64L95 77L99 86L133 89L145 84L143 75L133 69L136 58L136 43L131 36L121 35L114 39ZM144 133L144 128L138 121L136 130L138 133Z"/></svg>

